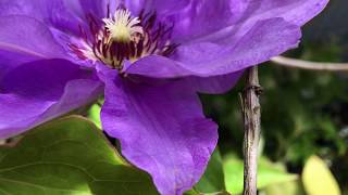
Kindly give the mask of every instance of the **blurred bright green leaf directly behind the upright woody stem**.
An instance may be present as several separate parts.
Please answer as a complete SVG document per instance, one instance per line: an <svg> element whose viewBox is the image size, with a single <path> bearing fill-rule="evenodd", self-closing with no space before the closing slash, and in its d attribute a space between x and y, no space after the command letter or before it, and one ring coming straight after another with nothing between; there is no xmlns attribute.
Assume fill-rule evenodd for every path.
<svg viewBox="0 0 348 195"><path fill-rule="evenodd" d="M224 159L224 173L227 191L233 194L243 193L243 160L235 155L227 155ZM297 176L287 173L282 165L273 164L265 158L260 158L258 168L258 188L296 179Z"/></svg>

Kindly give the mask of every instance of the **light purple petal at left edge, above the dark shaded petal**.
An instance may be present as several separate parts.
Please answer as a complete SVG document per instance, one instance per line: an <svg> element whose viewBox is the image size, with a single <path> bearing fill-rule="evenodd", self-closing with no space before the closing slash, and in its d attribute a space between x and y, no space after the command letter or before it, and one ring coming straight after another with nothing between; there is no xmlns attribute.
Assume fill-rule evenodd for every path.
<svg viewBox="0 0 348 195"><path fill-rule="evenodd" d="M35 18L3 16L0 18L0 26L1 51L27 55L37 60L64 57L64 50L55 42L51 31ZM13 57L13 61L16 61L16 57Z"/></svg>

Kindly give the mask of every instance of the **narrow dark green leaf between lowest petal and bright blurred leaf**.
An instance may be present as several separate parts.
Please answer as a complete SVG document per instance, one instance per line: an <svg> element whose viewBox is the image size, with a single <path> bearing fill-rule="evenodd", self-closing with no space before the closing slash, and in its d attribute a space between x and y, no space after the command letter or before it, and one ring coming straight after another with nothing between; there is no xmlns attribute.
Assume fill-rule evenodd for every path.
<svg viewBox="0 0 348 195"><path fill-rule="evenodd" d="M196 184L195 188L204 194L222 192L226 190L219 148L216 148L211 156L206 172L200 181Z"/></svg>

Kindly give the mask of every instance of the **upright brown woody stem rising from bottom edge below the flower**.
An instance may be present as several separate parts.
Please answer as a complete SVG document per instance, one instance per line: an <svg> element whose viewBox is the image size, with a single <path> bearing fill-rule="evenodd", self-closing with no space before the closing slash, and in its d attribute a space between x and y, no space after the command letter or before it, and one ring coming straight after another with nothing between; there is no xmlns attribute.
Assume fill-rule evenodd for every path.
<svg viewBox="0 0 348 195"><path fill-rule="evenodd" d="M247 73L247 83L241 95L244 114L244 195L257 194L258 147L261 133L261 106L259 96L262 88L259 83L258 67Z"/></svg>

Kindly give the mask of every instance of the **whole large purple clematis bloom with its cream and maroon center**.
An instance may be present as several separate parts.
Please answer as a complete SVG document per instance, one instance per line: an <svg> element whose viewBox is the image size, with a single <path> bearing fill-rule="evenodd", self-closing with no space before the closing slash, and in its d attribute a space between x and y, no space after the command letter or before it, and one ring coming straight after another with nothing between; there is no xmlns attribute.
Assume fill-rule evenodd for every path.
<svg viewBox="0 0 348 195"><path fill-rule="evenodd" d="M119 3L116 3L119 2ZM1 0L0 138L102 93L103 129L161 194L201 177L216 125L197 95L295 48L327 0Z"/></svg>

